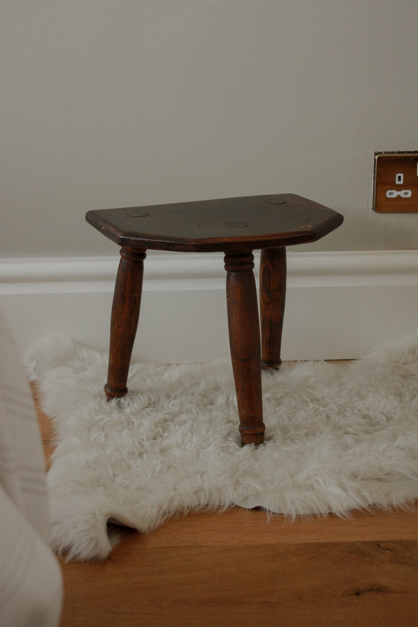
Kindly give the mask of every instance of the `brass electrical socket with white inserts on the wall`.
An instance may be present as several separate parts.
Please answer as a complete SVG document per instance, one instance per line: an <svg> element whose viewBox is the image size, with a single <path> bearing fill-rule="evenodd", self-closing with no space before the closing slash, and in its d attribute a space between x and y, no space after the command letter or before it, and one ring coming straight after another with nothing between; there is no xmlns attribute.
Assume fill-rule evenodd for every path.
<svg viewBox="0 0 418 627"><path fill-rule="evenodd" d="M373 209L418 212L418 150L375 152Z"/></svg>

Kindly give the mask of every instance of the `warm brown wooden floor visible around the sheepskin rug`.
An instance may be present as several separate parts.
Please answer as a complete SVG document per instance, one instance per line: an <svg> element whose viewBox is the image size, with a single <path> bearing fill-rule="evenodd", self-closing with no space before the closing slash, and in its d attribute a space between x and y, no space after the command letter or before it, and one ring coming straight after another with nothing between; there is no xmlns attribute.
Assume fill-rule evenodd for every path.
<svg viewBox="0 0 418 627"><path fill-rule="evenodd" d="M418 507L295 522L201 512L61 566L68 627L418 626Z"/></svg>

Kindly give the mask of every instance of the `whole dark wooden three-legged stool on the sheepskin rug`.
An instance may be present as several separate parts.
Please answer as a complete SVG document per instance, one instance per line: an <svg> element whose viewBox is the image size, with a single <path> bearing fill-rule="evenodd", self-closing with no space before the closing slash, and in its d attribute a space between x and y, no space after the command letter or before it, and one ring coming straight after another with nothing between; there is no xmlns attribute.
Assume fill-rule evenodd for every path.
<svg viewBox="0 0 418 627"><path fill-rule="evenodd" d="M122 246L113 296L105 392L124 396L137 332L145 251L222 251L229 345L243 444L264 441L261 368L280 367L286 248L319 240L343 216L295 194L88 211L86 221ZM261 346L253 250L261 248Z"/></svg>

